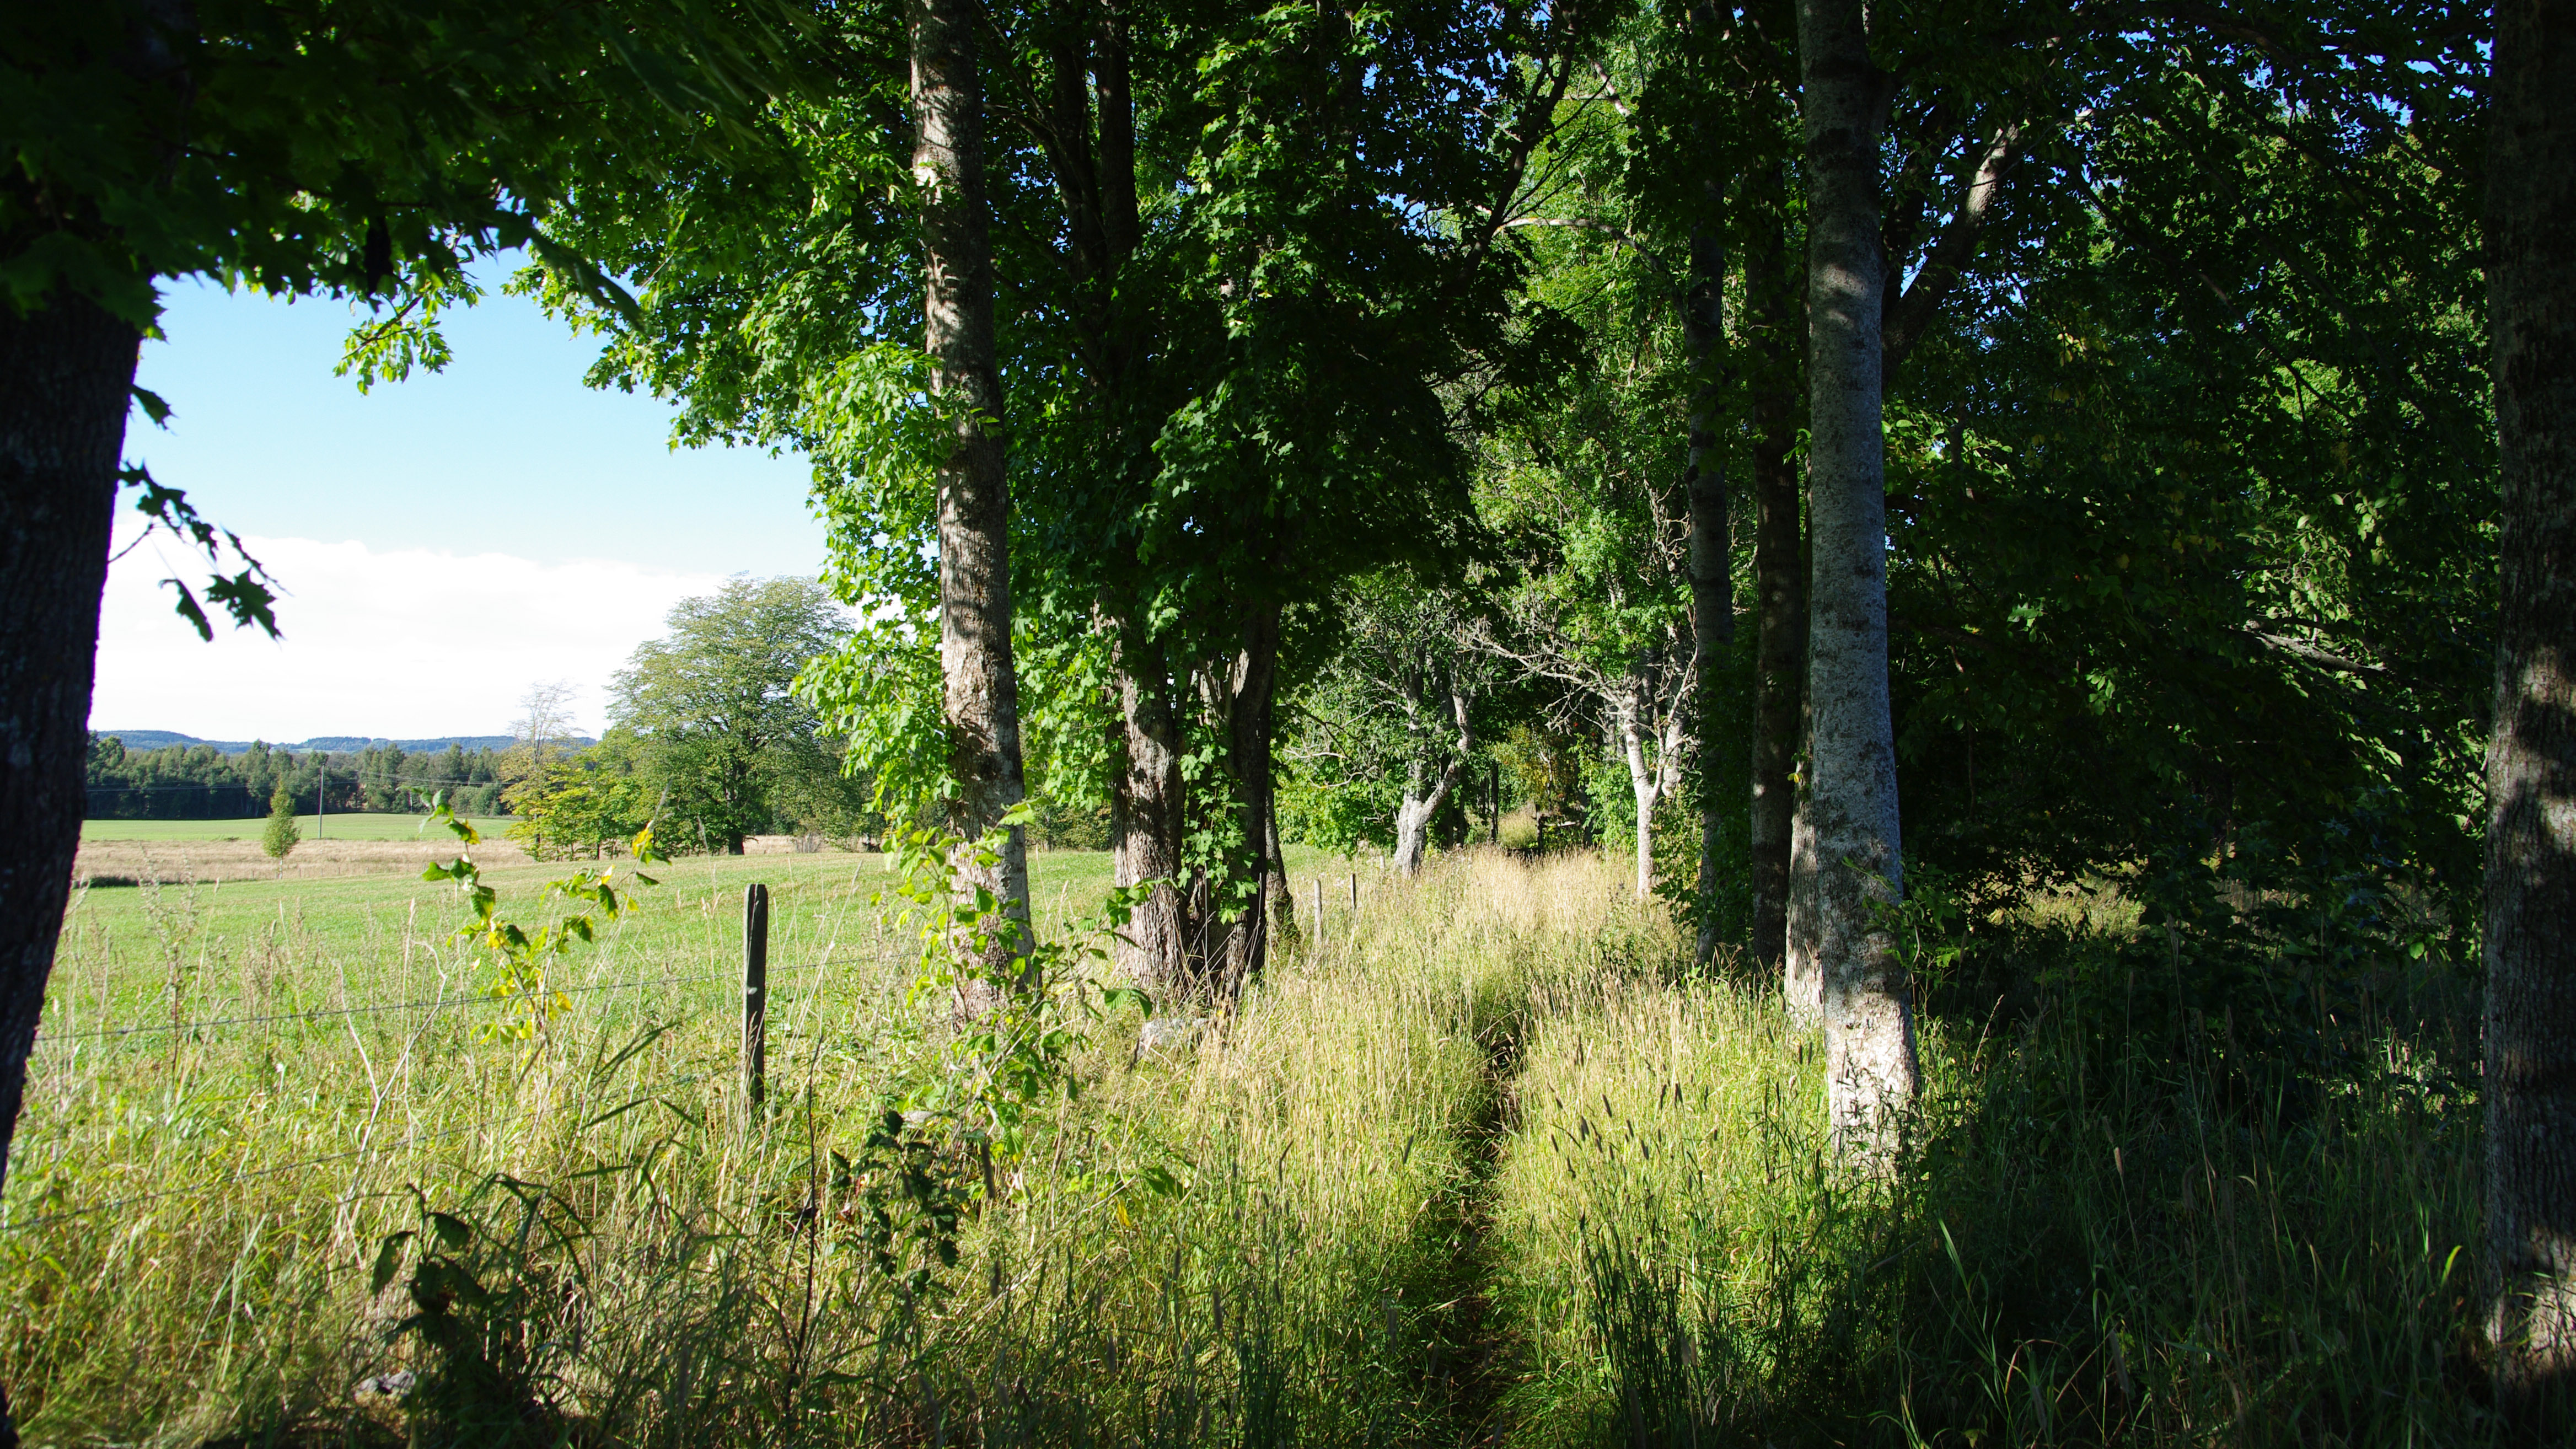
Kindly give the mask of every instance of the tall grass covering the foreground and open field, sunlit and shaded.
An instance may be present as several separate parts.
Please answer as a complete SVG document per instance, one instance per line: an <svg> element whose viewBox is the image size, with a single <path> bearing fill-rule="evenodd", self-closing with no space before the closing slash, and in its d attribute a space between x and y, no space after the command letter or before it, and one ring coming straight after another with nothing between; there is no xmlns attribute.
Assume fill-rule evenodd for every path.
<svg viewBox="0 0 2576 1449"><path fill-rule="evenodd" d="M64 1449L2491 1441L2476 1111L2403 1036L2264 1116L2218 1024L1929 1018L1914 1145L1852 1176L1816 1036L1615 861L1453 856L1358 910L1291 866L1306 933L1236 1008L1077 1018L1018 1155L914 1158L871 1142L938 1119L953 1021L876 856L667 866L531 1042L484 1031L440 887L90 890L0 1385ZM495 871L502 910L559 869ZM1108 861L1036 879L1056 931ZM981 1183L953 1263L933 1181Z"/></svg>

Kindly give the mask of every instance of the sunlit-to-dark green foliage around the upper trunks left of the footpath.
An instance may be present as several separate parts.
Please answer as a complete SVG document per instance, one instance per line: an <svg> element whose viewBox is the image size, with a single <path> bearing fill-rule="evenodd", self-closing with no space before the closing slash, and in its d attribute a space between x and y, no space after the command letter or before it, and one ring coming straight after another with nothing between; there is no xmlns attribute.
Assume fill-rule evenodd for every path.
<svg viewBox="0 0 2576 1449"><path fill-rule="evenodd" d="M904 44L891 5L829 23L855 54ZM1118 694L1103 686L1126 660L1195 761L1172 846L1216 871L1211 895L1239 895L1249 853L1226 841L1249 766L1211 753L1208 691L1280 611L1376 567L1437 575L1463 557L1455 382L1515 351L1499 322L1517 266L1463 219L1520 180L1504 137L1530 85L1520 54L1577 28L1190 3L987 23L1030 789L1056 810L1105 804ZM1118 90L1131 155L1097 116ZM1494 106L1453 103L1463 93ZM765 160L636 168L549 219L652 278L634 317L549 291L608 327L595 382L677 400L683 441L817 459L829 580L863 621L801 691L891 817L943 799L948 763L930 469L951 436L917 351L907 144L902 75L845 70L827 101L778 108ZM1126 188L1133 235L1113 214Z"/></svg>

